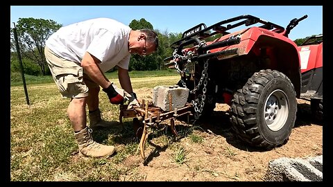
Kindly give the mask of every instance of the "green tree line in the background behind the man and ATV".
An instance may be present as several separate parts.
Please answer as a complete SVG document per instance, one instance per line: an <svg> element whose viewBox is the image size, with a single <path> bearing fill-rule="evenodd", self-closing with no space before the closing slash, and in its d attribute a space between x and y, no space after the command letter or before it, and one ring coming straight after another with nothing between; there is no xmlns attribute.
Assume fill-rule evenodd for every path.
<svg viewBox="0 0 333 187"><path fill-rule="evenodd" d="M133 19L128 26L133 30L143 28L155 30L159 39L159 46L156 53L146 57L132 55L130 58L129 71L164 69L164 59L170 57L173 53L173 49L170 45L178 39L181 39L182 33L169 33L167 30L161 31L154 29L153 25L144 18L139 20ZM35 19L29 17L19 18L15 27L24 73L28 75L51 75L44 56L44 46L46 39L61 28L62 24L58 24L51 19ZM11 28L10 30L10 71L19 72L21 69L13 29L14 28ZM206 39L206 41L212 41L212 39L216 39L217 37L221 37L221 35L215 35L214 37ZM300 45L305 39L307 39L307 37L296 39L294 42ZM117 67L110 71L115 71L116 69Z"/></svg>

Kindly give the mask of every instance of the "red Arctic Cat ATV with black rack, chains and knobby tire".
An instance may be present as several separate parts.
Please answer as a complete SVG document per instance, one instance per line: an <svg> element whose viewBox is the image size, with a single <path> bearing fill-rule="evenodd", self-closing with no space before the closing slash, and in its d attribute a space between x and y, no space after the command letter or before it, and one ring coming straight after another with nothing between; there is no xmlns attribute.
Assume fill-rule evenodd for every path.
<svg viewBox="0 0 333 187"><path fill-rule="evenodd" d="M210 116L216 103L226 103L240 139L266 149L286 143L296 121L296 98L304 93L322 99L322 84L318 89L311 84L322 68L315 71L319 65L309 61L309 78L302 77L302 47L288 38L305 18L292 19L284 28L241 15L186 30L171 45L173 56L165 60L180 73L180 87L189 88L194 117ZM309 50L314 51L312 46ZM318 94L310 94L312 90Z"/></svg>

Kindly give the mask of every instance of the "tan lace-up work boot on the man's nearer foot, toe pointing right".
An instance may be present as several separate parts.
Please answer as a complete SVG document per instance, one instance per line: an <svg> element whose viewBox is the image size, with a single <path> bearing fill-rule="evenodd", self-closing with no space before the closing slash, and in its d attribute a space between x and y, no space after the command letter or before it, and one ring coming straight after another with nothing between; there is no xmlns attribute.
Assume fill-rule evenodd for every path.
<svg viewBox="0 0 333 187"><path fill-rule="evenodd" d="M87 157L110 157L114 153L114 146L101 145L92 140L92 129L85 127L80 132L74 132L78 142L78 150Z"/></svg>

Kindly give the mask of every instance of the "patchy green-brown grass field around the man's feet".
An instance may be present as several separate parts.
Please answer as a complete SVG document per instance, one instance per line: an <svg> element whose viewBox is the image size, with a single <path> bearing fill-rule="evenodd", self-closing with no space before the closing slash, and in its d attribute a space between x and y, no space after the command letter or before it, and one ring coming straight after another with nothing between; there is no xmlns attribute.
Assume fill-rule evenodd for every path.
<svg viewBox="0 0 333 187"><path fill-rule="evenodd" d="M179 80L178 74L171 71L130 74L133 88L153 88L162 84L174 84ZM36 78L26 75L31 103L26 105L19 75L12 73L10 87L10 181L144 180L144 176L137 171L137 163L126 167L122 164L128 157L139 157L139 141L133 139L135 132L132 118L123 118L123 126L95 130L92 134L95 141L116 147L117 154L112 159L83 159L77 155L78 145L67 118L69 99L60 97L51 76ZM117 81L116 73L107 73L106 76L110 81ZM168 78L154 81L154 78L161 76ZM109 111L103 118L107 121L119 121L119 107L110 105L107 96L102 92L100 94L101 110ZM200 142L200 138L196 136L193 139L194 142ZM169 138L160 141L166 144L169 143ZM175 152L177 163L184 163L185 150Z"/></svg>

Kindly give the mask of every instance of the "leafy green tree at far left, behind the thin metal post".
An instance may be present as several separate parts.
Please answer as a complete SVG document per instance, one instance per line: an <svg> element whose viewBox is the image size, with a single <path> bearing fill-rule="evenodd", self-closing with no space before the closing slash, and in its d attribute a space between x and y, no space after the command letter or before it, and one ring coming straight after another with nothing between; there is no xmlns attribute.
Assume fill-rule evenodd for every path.
<svg viewBox="0 0 333 187"><path fill-rule="evenodd" d="M51 19L19 18L17 21L17 39L22 58L26 57L40 66L43 75L46 75L46 60L44 47L48 39L62 24ZM15 44L13 30L11 29L11 50Z"/></svg>

